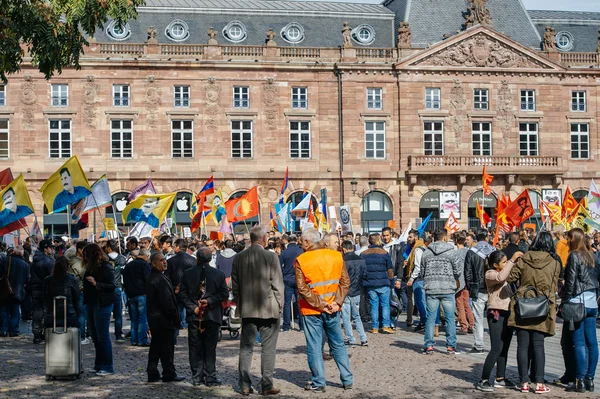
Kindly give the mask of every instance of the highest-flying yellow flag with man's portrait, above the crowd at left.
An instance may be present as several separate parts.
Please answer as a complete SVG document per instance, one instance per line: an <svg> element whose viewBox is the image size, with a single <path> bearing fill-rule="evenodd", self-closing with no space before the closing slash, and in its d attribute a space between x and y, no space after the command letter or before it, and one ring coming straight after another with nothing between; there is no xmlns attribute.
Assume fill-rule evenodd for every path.
<svg viewBox="0 0 600 399"><path fill-rule="evenodd" d="M54 213L87 197L92 188L74 155L46 180L40 191L48 213Z"/></svg>

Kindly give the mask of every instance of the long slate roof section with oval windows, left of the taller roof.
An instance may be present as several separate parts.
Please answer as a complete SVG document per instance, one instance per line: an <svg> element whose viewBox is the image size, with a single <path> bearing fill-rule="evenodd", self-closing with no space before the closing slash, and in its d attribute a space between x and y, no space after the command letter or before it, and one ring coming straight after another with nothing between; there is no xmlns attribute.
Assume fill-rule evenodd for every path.
<svg viewBox="0 0 600 399"><path fill-rule="evenodd" d="M247 37L238 45L264 45L265 32L272 28L278 46L339 47L342 45L344 21L355 28L369 25L375 31L374 41L368 47L393 47L395 30L393 11L378 4L355 4L282 0L147 0L138 8L137 20L129 21L131 36L122 43L143 43L150 26L156 28L159 43L203 44L208 41L207 31L214 27L219 44L234 44L223 35L223 28L232 21L244 24ZM165 29L174 20L182 20L189 27L189 38L174 42ZM281 37L289 23L298 23L304 29L304 40L289 43ZM96 31L98 42L114 42L103 30ZM354 42L356 47L362 45Z"/></svg>

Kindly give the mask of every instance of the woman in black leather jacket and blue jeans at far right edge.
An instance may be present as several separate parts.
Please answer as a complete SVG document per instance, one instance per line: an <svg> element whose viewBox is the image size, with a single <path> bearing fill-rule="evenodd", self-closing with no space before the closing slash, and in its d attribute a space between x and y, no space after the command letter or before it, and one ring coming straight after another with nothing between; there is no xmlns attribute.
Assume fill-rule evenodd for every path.
<svg viewBox="0 0 600 399"><path fill-rule="evenodd" d="M586 245L583 230L575 228L567 233L569 257L565 268L563 293L563 328L569 328L575 345L575 383L567 391L594 392L594 375L598 365L598 339L596 317L598 303L598 268L594 256Z"/></svg>

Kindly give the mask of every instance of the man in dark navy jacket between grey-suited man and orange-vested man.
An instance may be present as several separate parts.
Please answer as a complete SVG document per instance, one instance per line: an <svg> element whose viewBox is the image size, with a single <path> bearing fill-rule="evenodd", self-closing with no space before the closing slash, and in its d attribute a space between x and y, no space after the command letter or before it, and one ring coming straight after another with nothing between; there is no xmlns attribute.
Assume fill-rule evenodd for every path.
<svg viewBox="0 0 600 399"><path fill-rule="evenodd" d="M281 272L283 273L283 284L285 285L283 294L283 324L281 325L281 331L286 332L290 330L292 322L291 307L292 299L294 296L298 298L298 288L296 287L296 271L294 269L294 262L296 258L300 256L304 251L297 243L298 238L295 235L290 235L288 238L288 247L279 256L279 262L281 263ZM300 331L304 330L304 323L302 315L298 312L298 320L300 324Z"/></svg>

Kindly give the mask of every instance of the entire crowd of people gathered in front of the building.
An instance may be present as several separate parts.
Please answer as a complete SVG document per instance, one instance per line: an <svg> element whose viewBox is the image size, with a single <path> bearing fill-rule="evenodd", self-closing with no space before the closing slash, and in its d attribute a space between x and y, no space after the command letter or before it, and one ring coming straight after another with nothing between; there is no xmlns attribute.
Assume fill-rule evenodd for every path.
<svg viewBox="0 0 600 399"><path fill-rule="evenodd" d="M261 344L263 395L276 395L273 372L280 333L296 324L306 338L312 379L306 390L326 389L324 361L333 359L344 389L352 389L349 346L368 346L368 334L424 333L423 353L432 356L445 330L448 355L460 353L457 336L472 334L469 353L487 354L476 388L493 392L550 391L545 380L545 338L565 320L561 349L565 373L554 381L567 391L594 390L598 363L596 319L600 287L600 233L575 228L552 233L523 230L496 245L485 229L448 234L391 228L370 234L300 236L254 227L244 237L128 238L91 243L42 240L2 249L0 277L13 295L0 306L0 336L19 335L31 320L33 343L44 341L54 319L79 328L93 342L91 372L114 374L114 341L149 347L148 381L183 381L174 366L179 331L188 330L194 385L220 385L217 342L222 303L230 295L241 318L239 389L254 391L252 350ZM54 307L67 299L66 315ZM54 314L56 312L56 314ZM123 331L123 314L131 329ZM485 328L489 332L486 349ZM353 329L358 334L356 339ZM506 378L508 351L516 335L518 382ZM464 338L470 340L470 338ZM325 344L328 344L328 351ZM327 353L328 352L328 353ZM162 365L162 375L158 369ZM495 379L490 381L496 367Z"/></svg>

